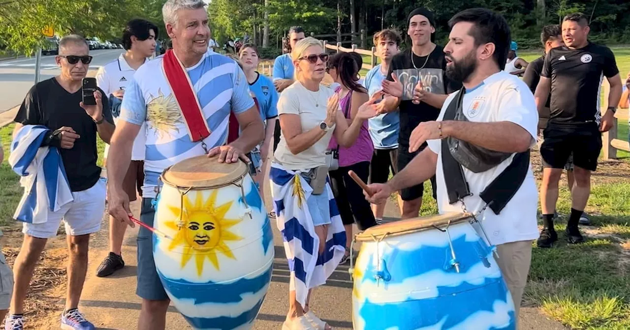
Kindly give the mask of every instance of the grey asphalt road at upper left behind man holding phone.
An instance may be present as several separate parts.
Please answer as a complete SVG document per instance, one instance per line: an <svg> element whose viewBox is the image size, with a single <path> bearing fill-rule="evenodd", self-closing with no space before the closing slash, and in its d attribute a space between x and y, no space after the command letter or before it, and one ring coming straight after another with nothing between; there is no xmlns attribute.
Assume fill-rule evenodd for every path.
<svg viewBox="0 0 630 330"><path fill-rule="evenodd" d="M98 69L115 60L122 49L92 50L94 58L90 69ZM55 64L54 55L42 55L40 81L58 75L60 70ZM19 105L26 92L35 83L35 57L4 60L0 62L0 113Z"/></svg>

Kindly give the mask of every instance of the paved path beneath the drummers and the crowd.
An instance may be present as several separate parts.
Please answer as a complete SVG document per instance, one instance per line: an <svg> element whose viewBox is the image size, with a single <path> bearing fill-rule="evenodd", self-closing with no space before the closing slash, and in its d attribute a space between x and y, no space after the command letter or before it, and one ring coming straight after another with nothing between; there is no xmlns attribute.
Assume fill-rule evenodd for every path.
<svg viewBox="0 0 630 330"><path fill-rule="evenodd" d="M265 194L265 204L272 205L270 194ZM386 215L398 217L398 207L388 203ZM139 204L132 204L134 214L139 214ZM282 248L282 238L275 226L273 238L275 245L275 263L272 283L265 302L255 323L256 330L280 329L288 309L289 270ZM123 258L127 267L116 275L107 278L95 276L96 268L108 253L107 224L104 217L103 230L91 243L90 265L86 279L81 310L101 330L133 330L137 327L140 313L140 299L135 295L135 236L137 229L130 229L125 235ZM356 228L355 228L356 230ZM352 282L348 275L348 265L340 266L333 273L328 283L312 295L311 307L319 317L335 329L352 329ZM521 314L521 330L563 330L558 322L549 321L537 309L525 308ZM57 322L57 319L54 320ZM166 329L191 329L183 317L171 306L167 316Z"/></svg>

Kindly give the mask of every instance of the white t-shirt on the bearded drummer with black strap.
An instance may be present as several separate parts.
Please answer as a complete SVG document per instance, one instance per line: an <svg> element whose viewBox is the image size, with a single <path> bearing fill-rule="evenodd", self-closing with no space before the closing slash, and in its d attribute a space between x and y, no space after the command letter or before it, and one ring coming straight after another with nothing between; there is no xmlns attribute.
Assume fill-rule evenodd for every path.
<svg viewBox="0 0 630 330"><path fill-rule="evenodd" d="M444 112L454 94L444 102L438 120L444 118ZM488 77L478 87L468 91L464 96L462 109L469 121L490 123L496 121L510 121L525 128L532 136L532 146L536 143L536 129L538 125L538 112L534 95L527 85L515 75L505 71L498 72ZM444 182L444 169L442 167L440 140L429 140L428 146L437 153L437 203L440 213L461 212L461 202L449 204L449 196ZM486 187L512 162L513 155L504 160L498 166L486 172L474 173L463 168L464 177L468 182L473 195L465 197L464 203L469 212L477 214L486 203L479 197ZM490 207L478 217L484 231L493 245L500 245L515 241L533 240L538 238L536 223L536 211L538 207L538 190L534 181L534 173L530 165L527 176L516 194L510 199L505 208L496 215ZM483 233L479 235L484 238Z"/></svg>

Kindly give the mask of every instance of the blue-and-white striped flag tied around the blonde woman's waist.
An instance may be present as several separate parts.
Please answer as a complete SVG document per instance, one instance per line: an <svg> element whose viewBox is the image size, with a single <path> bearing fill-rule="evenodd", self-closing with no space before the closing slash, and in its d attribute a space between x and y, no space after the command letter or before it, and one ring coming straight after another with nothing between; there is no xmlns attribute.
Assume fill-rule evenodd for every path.
<svg viewBox="0 0 630 330"><path fill-rule="evenodd" d="M333 190L326 183L324 194L328 194L332 223L328 226L326 250L319 255L319 238L306 202L312 193L311 186L299 171L285 170L278 163L272 163L269 177L276 221L289 260L289 290L295 290L295 298L304 307L309 289L325 284L343 258L346 233Z"/></svg>

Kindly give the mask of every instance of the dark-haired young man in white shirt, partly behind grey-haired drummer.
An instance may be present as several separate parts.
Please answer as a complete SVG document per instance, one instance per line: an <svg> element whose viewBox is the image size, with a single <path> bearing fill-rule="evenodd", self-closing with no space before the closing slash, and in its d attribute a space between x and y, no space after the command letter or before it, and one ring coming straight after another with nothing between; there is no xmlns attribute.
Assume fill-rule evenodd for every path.
<svg viewBox="0 0 630 330"><path fill-rule="evenodd" d="M123 48L127 52L113 62L101 67L96 74L96 84L100 87L112 104L112 114L117 120L120 113L120 104L125 95L125 87L129 80L144 62L153 55L156 49L157 26L144 19L132 19L127 23L123 31ZM125 176L125 192L130 201L137 199L137 194L142 194L142 182L144 182L144 152L146 140L146 127L142 125L135 138L132 151L132 162ZM105 161L109 145L105 145ZM104 162L105 163L105 162ZM105 164L103 164L105 165ZM110 253L96 270L96 276L106 277L125 266L122 259L122 240L125 236L127 224L116 221L110 216Z"/></svg>

